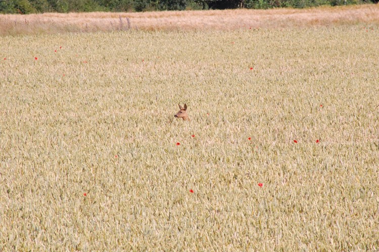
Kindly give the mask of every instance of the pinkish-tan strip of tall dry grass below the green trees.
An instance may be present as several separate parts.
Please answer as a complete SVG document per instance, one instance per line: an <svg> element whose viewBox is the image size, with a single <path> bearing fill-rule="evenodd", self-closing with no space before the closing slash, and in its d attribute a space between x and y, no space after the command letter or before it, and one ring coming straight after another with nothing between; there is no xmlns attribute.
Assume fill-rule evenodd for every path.
<svg viewBox="0 0 379 252"><path fill-rule="evenodd" d="M145 13L70 13L0 15L0 35L114 31L119 17L142 30L235 30L340 24L378 24L378 5L310 9L170 11ZM125 22L125 20L124 20Z"/></svg>

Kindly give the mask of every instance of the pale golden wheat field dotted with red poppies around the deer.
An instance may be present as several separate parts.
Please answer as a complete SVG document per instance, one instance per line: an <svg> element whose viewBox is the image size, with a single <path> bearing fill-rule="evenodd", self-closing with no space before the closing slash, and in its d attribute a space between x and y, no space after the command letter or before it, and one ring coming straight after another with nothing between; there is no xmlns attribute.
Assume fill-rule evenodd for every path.
<svg viewBox="0 0 379 252"><path fill-rule="evenodd" d="M0 250L377 250L378 28L1 37Z"/></svg>

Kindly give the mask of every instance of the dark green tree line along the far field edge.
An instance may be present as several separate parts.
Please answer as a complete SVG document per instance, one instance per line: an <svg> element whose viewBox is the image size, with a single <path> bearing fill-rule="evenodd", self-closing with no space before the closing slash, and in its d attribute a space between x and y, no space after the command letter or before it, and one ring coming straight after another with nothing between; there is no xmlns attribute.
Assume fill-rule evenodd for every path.
<svg viewBox="0 0 379 252"><path fill-rule="evenodd" d="M0 13L306 8L377 2L378 0L0 0Z"/></svg>

